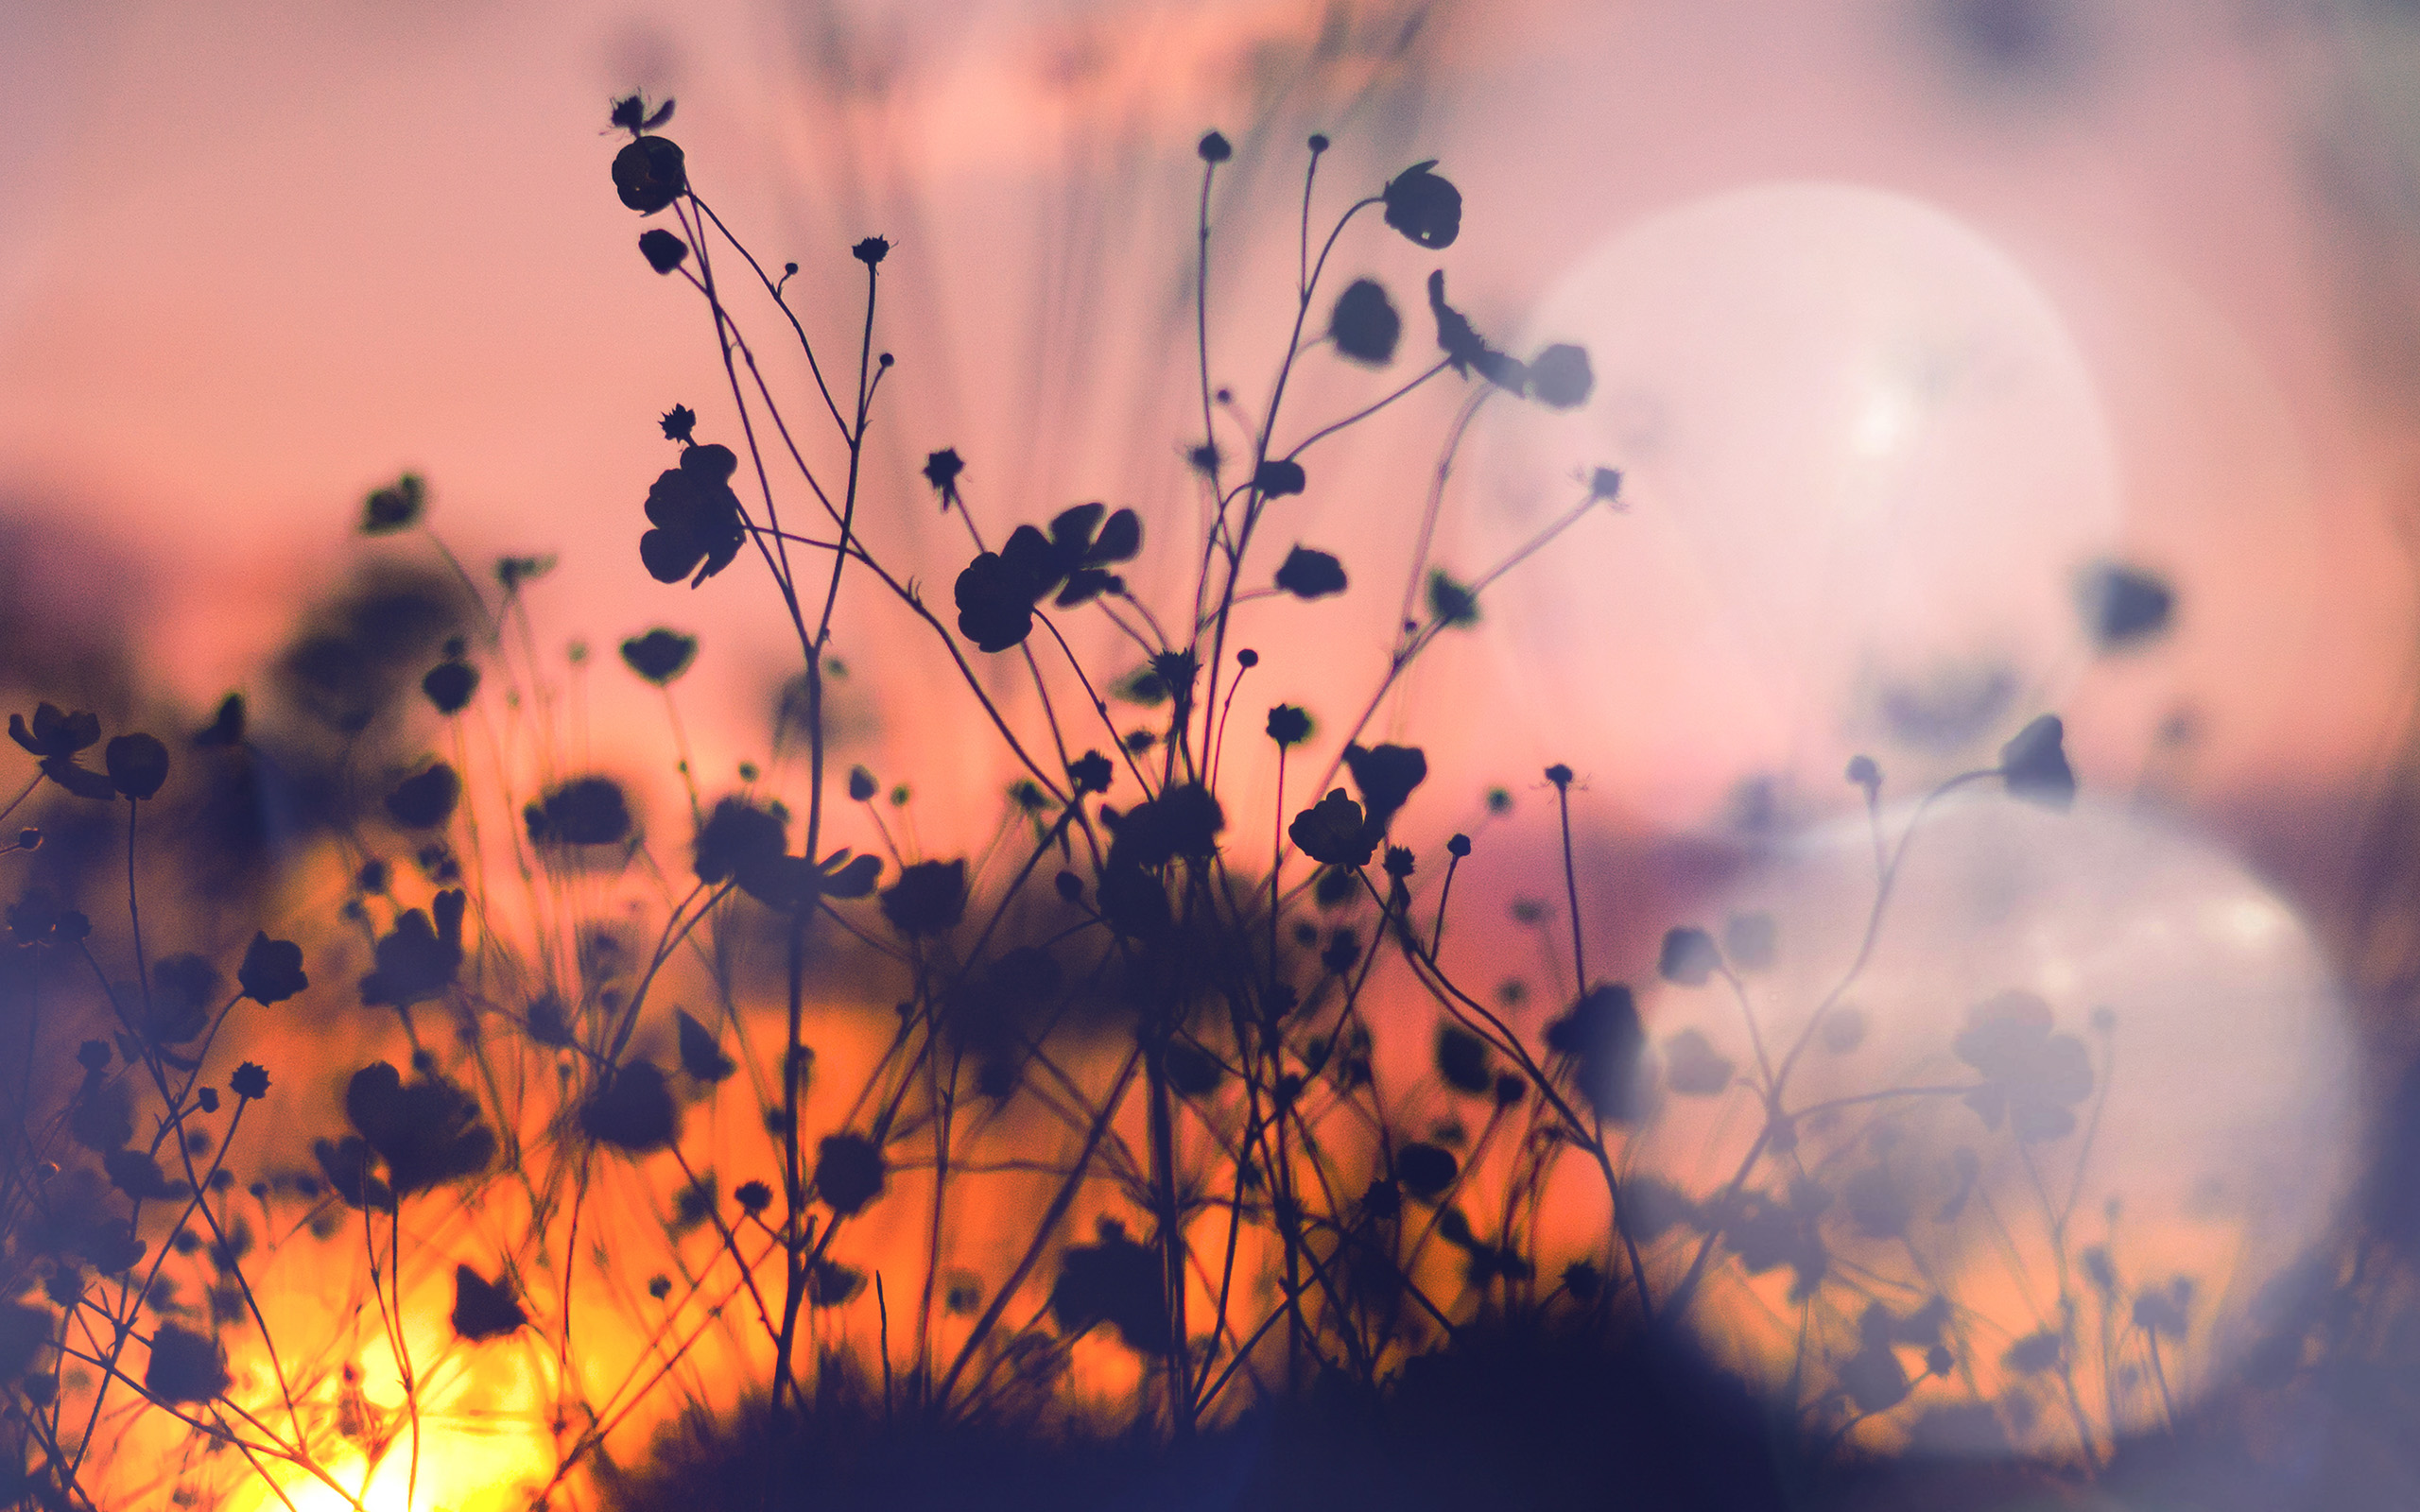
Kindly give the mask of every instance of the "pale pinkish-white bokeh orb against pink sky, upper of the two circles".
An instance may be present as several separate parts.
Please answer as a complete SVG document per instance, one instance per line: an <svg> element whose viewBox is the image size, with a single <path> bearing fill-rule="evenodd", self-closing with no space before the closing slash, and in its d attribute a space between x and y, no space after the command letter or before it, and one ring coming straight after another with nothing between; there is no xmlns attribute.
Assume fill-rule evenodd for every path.
<svg viewBox="0 0 2420 1512"><path fill-rule="evenodd" d="M1851 184L1718 194L1571 269L1517 351L1554 341L1595 397L1483 411L1462 544L1486 561L1575 467L1624 472L1629 518L1525 564L1498 624L1529 719L1646 813L1851 750L1948 769L2084 670L2118 464L2059 312L1975 227Z"/></svg>

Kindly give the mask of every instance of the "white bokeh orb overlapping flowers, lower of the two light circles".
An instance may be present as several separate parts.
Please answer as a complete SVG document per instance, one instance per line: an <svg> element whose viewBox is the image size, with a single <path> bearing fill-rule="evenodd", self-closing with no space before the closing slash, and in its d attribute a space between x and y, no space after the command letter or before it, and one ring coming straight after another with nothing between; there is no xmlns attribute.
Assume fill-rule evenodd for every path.
<svg viewBox="0 0 2420 1512"><path fill-rule="evenodd" d="M2355 1181L2309 929L2190 835L1972 791L1924 813L1851 977L1876 878L1863 820L1781 847L1706 917L1769 919L1769 960L1750 924L1641 994L1650 1275L1723 1231L1692 1323L1876 1447L2105 1449L2238 1379ZM1791 1118L1733 1188L1769 1123L1750 1014Z"/></svg>

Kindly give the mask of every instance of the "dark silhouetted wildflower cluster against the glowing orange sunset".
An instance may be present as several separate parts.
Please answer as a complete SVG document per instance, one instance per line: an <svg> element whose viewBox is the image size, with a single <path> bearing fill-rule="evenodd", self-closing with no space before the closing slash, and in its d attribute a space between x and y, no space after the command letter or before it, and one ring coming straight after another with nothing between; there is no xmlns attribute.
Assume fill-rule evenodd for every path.
<svg viewBox="0 0 2420 1512"><path fill-rule="evenodd" d="M1307 363L1377 373L1401 358L1394 295L1375 278L1331 295L1329 264L1367 210L1423 252L1454 247L1462 194L1435 162L1346 203L1314 254L1329 143L1309 140L1290 336L1256 421L1212 385L1203 339L1200 433L1183 443L1208 530L1169 547L1157 532L1193 510L1101 501L992 547L980 457L937 450L922 481L966 532L937 605L878 552L864 508L888 498L869 479L876 399L903 382L876 346L888 240L849 247L866 288L849 375L789 302L796 264L770 271L699 194L661 135L670 114L615 106L627 140L612 184L634 213L668 215L639 252L699 298L726 389L714 419L663 414L678 455L629 527L661 585L702 590L743 556L765 571L799 648L784 711L799 750L743 767L728 791L702 786L673 692L697 639L656 627L620 641L680 748L687 813L661 844L644 791L578 769L547 733L561 714L528 590L552 559L508 556L474 581L426 530L428 486L411 474L365 498L361 530L421 542L443 571L373 573L298 636L278 675L307 738L264 733L242 697L191 738L191 762L148 733L104 743L97 714L12 714L29 777L0 820L31 806L46 823L0 854L48 871L7 878L0 960L15 1062L0 1505L148 1495L109 1461L169 1444L145 1464L172 1466L162 1483L189 1497L254 1478L368 1512L380 1464L404 1456L411 1497L424 1454L445 1454L440 1381L501 1352L542 1381L532 1415L552 1478L530 1485L532 1505L583 1495L590 1473L624 1505L695 1500L707 1483L731 1505L961 1505L1004 1476L1055 1488L1033 1505L1176 1505L1171 1488L1198 1476L1251 1488L1254 1505L1336 1505L1355 1488L1544 1505L1602 1500L1607 1476L1653 1505L1784 1505L1854 1488L1861 1430L2006 1447L2064 1415L2079 1447L2057 1473L2074 1476L2120 1466L2115 1427L2139 1420L2127 1391L2156 1389L2183 1420L2168 1372L2197 1338L2195 1280L2130 1277L2120 1248L2072 1229L2108 1096L2108 1018L2086 1038L2050 1002L1980 985L1946 1048L1953 1079L1820 1101L1793 1089L1808 1055L1861 1045L1846 997L1924 813L1982 786L2074 801L2057 716L1924 793L1895 839L1880 764L1849 764L1876 842L1866 939L1786 1021L1747 989L1798 946L1771 919L1663 936L1653 975L1728 994L1745 1048L1704 1028L1658 1040L1631 985L1590 973L1568 767L1542 774L1568 914L1544 992L1481 989L1471 973L1493 975L1496 958L1450 948L1474 839L1433 847L1406 823L1428 760L1372 726L1505 573L1624 503L1619 472L1585 460L1568 510L1503 561L1457 578L1430 559L1474 416L1578 409L1595 387L1578 346L1493 346L1447 302L1442 269L1428 276L1425 363L1343 416L1287 409ZM1208 133L1198 150L1205 334L1232 145ZM743 310L796 341L808 421L784 409ZM1237 728L1263 660L1244 644L1254 602L1353 583L1336 552L1278 552L1287 501L1333 486L1319 443L1445 380L1467 389L1367 704L1333 723L1246 704ZM1147 542L1198 564L1188 602L1135 593ZM840 772L835 687L883 675L842 644L845 593L920 636L997 740L1014 786L987 849L924 854L910 786ZM2156 639L2171 605L2137 569L2079 585L2105 651ZM1120 668L1087 665L1079 617L1120 646ZM424 750L411 731L436 735ZM1275 813L1232 810L1222 772L1244 757L1229 738L1268 743ZM283 806L315 854L341 861L334 927L152 953L148 815L211 762L242 774L237 823ZM1316 764L1307 784L1302 762ZM1503 791L1488 801L1505 806ZM85 912L102 898L106 927ZM649 900L653 939L607 907L627 898ZM1515 905L1539 929L1546 914ZM261 1062L300 1055L307 1023L341 1026L322 1123L293 1149L252 1152L247 1110L305 1081L273 1084ZM830 1086L818 1062L866 1033L862 1077ZM1382 1035L1413 1035L1425 1069L1382 1064ZM1750 1108L1752 1142L1709 1190L1636 1161L1677 1098ZM1963 1106L1972 1130L1931 1159L1895 1132L1909 1106ZM2040 1173L2055 1152L2064 1200ZM1936 1236L1975 1222L1987 1159L2033 1176L2052 1234L2055 1321L2023 1338L1992 1335L1982 1306L1924 1268ZM632 1212L653 1214L644 1231ZM600 1241L603 1224L620 1227ZM898 1231L908 1248L878 1239ZM334 1343L278 1328L266 1277L288 1263L351 1277ZM1759 1403L1675 1340L1711 1289L1745 1297L1762 1277L1800 1326L1798 1364ZM636 1340L607 1389L583 1369L600 1335ZM685 1367L711 1347L750 1372L736 1415ZM363 1391L368 1357L394 1374L399 1406ZM1104 1379L1120 1381L1108 1406ZM2108 1384L2086 1401L2093 1379ZM716 1413L724 1427L707 1427ZM653 1476L615 1449L632 1422L678 1422ZM1474 1449L1457 1459L1459 1442Z"/></svg>

